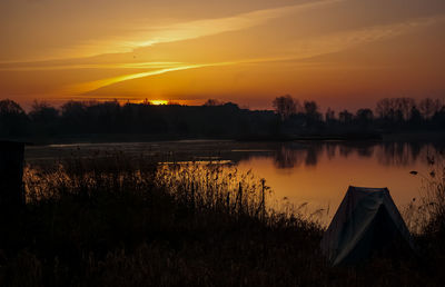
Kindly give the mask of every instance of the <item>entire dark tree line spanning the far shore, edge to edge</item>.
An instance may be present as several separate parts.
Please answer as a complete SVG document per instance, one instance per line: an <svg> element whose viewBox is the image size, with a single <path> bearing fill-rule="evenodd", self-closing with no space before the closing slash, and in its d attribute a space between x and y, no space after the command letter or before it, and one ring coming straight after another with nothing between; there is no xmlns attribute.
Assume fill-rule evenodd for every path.
<svg viewBox="0 0 445 287"><path fill-rule="evenodd" d="M0 136L123 133L234 138L445 128L444 103L429 98L418 102L411 98L382 99L374 110L362 108L354 113L346 109L336 112L330 108L322 112L316 101L300 102L290 96L275 98L273 107L274 110L249 110L214 99L202 106L70 100L59 108L34 101L26 112L19 103L4 99L0 100Z"/></svg>

